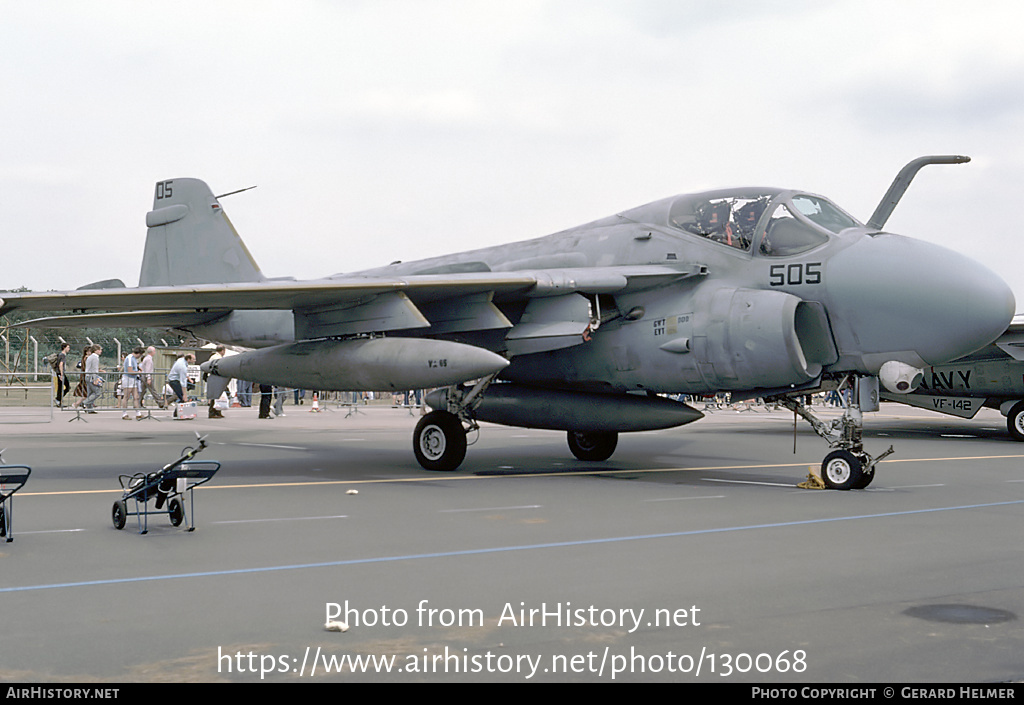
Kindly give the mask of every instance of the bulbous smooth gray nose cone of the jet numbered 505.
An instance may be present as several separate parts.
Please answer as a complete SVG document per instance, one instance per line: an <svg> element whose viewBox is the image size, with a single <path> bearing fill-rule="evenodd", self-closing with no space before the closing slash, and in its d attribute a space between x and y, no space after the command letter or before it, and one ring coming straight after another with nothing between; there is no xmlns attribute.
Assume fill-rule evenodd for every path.
<svg viewBox="0 0 1024 705"><path fill-rule="evenodd" d="M888 360L920 367L961 358L1001 335L1014 315L1013 292L991 269L898 235L864 237L831 258L826 276L872 372Z"/></svg>

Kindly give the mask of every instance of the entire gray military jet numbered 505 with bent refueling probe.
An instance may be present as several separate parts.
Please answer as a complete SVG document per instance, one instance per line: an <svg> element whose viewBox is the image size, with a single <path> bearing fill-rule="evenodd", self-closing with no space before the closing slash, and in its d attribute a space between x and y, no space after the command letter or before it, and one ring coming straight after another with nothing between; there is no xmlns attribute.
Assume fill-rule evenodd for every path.
<svg viewBox="0 0 1024 705"><path fill-rule="evenodd" d="M864 451L860 409L826 425L805 396L883 372L907 391L925 366L990 343L1014 313L989 269L882 230L922 166L964 161L911 162L866 225L803 191L710 191L301 282L265 278L209 188L178 178L157 184L138 288L5 295L0 313L108 310L23 325L156 326L257 348L207 365L214 393L230 377L445 387L428 397L434 411L413 443L435 470L462 463L480 421L565 430L578 458L605 460L620 432L701 417L659 393L763 397L834 449L828 486L862 488L884 455Z"/></svg>

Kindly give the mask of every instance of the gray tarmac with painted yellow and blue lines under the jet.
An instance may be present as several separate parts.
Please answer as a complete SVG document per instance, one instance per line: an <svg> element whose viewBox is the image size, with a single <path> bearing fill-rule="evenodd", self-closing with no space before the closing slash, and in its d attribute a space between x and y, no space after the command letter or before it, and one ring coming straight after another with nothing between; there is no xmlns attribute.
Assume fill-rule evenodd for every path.
<svg viewBox="0 0 1024 705"><path fill-rule="evenodd" d="M827 449L784 411L623 434L603 463L484 424L447 473L416 463L417 413L359 411L4 417L32 475L0 542L0 681L1024 677L1024 445L997 412L884 404L865 446L896 453L836 492L796 487ZM184 525L116 530L119 475L197 432L222 465Z"/></svg>

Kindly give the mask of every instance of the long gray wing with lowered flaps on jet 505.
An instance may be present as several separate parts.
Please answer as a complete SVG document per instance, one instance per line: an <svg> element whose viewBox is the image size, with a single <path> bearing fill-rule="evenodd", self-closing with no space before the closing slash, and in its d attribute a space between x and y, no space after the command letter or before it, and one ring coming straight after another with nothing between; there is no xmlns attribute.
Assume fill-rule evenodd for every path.
<svg viewBox="0 0 1024 705"><path fill-rule="evenodd" d="M569 333L561 324L582 333L589 323L589 316L580 313L586 301L567 299L567 294L637 291L705 274L707 267L699 264L651 264L11 293L2 295L0 315L76 314L25 321L23 327L178 328L209 323L233 310L290 309L296 338L303 339L416 328L430 328L431 333L512 328L493 301L529 299L536 301L526 317L529 323L512 337L552 338ZM529 350L537 351L536 345Z"/></svg>

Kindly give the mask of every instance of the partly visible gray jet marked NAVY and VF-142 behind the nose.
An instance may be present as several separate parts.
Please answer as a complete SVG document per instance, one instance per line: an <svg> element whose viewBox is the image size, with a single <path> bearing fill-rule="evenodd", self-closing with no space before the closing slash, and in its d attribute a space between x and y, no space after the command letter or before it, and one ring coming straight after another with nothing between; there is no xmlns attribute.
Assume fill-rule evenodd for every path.
<svg viewBox="0 0 1024 705"><path fill-rule="evenodd" d="M1011 438L1024 441L1024 317L1014 318L991 345L923 373L909 393L883 391L882 398L961 418L998 409Z"/></svg>

